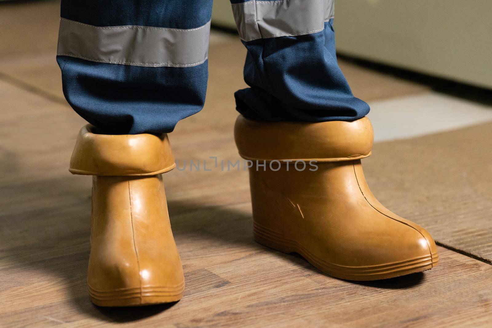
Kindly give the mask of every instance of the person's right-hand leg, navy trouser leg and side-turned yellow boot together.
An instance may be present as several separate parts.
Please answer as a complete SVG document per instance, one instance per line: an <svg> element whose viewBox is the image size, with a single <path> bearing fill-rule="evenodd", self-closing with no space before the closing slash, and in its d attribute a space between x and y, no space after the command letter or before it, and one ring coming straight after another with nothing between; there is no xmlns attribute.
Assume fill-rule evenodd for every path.
<svg viewBox="0 0 492 328"><path fill-rule="evenodd" d="M253 161L254 238L342 279L434 267L431 235L384 208L364 179L369 106L338 68L333 0L232 2L248 51L250 88L235 94L242 115L234 135L241 156Z"/></svg>

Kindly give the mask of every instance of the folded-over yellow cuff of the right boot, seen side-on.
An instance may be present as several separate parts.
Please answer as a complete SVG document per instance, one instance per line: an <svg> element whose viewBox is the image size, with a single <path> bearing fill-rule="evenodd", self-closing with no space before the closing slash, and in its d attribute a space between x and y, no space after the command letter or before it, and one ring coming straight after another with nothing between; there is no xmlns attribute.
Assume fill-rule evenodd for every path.
<svg viewBox="0 0 492 328"><path fill-rule="evenodd" d="M368 157L374 133L367 117L312 123L267 122L240 115L234 139L245 159L338 162Z"/></svg>

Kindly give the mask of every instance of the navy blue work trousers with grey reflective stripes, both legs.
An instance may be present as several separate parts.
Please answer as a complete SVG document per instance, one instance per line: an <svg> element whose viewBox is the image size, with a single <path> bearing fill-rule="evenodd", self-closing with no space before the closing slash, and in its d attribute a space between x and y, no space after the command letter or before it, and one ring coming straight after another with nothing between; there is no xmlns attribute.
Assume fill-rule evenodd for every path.
<svg viewBox="0 0 492 328"><path fill-rule="evenodd" d="M267 121L355 120L333 0L231 0L246 46L236 109ZM57 60L72 108L106 134L171 132L199 112L212 0L62 0ZM232 96L232 95L231 95Z"/></svg>

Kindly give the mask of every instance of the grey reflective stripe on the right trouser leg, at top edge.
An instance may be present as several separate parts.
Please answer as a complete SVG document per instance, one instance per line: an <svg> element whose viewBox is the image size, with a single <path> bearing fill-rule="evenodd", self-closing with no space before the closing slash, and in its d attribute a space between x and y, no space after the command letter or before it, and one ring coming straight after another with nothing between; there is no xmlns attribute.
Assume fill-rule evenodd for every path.
<svg viewBox="0 0 492 328"><path fill-rule="evenodd" d="M232 12L244 41L304 35L323 30L333 18L334 0L251 0L233 3Z"/></svg>

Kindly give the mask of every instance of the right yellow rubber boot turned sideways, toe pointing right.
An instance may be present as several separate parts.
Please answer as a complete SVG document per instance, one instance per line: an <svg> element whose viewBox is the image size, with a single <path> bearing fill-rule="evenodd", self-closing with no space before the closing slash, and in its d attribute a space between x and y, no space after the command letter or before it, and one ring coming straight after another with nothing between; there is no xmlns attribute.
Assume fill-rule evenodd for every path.
<svg viewBox="0 0 492 328"><path fill-rule="evenodd" d="M235 139L241 156L252 161L259 243L299 253L348 280L391 278L437 265L431 235L383 207L369 190L361 166L373 144L368 118L307 123L239 116Z"/></svg>

